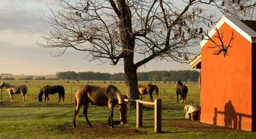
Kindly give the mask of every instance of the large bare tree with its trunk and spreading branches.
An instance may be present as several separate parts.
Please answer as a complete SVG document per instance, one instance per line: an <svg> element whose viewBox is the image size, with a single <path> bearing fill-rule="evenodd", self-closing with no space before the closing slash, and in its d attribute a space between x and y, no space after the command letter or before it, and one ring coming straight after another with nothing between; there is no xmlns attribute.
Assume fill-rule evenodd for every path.
<svg viewBox="0 0 256 139"><path fill-rule="evenodd" d="M252 16L252 1L196 0L60 0L61 9L47 17L52 31L47 48L87 52L95 59L124 64L127 96L139 98L137 68L152 59L188 62L191 47L204 37L203 27L212 27L219 9L235 17ZM243 8L241 8L243 7ZM227 11L229 9L229 11ZM249 10L250 9L250 10ZM239 11L239 12L238 12ZM134 57L140 57L135 62Z"/></svg>

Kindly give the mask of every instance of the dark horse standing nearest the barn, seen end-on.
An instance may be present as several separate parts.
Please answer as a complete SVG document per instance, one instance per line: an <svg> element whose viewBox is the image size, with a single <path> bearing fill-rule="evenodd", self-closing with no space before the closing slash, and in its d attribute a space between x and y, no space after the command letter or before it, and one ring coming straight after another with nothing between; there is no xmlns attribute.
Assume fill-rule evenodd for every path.
<svg viewBox="0 0 256 139"><path fill-rule="evenodd" d="M188 87L183 85L181 81L178 81L177 86L176 86L176 95L177 95L177 103L179 103L179 95L181 103L185 103L186 101L186 94L188 93Z"/></svg>

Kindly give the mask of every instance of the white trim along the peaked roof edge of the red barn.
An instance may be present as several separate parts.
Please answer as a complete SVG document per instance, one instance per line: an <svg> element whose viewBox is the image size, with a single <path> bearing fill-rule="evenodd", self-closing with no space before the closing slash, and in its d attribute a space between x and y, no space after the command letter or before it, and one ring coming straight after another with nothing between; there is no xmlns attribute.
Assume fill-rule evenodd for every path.
<svg viewBox="0 0 256 139"><path fill-rule="evenodd" d="M246 24L244 24L239 19L232 17L232 16L224 16L220 19L220 21L211 29L211 31L208 33L210 37L213 37L215 34L215 29L219 29L224 23L227 23L230 27L234 28L235 31L239 32L244 38L246 38L251 43L256 43L256 32L253 31L252 28L248 27ZM206 40L208 37L205 36L205 39L200 42L201 48L205 45L208 40Z"/></svg>

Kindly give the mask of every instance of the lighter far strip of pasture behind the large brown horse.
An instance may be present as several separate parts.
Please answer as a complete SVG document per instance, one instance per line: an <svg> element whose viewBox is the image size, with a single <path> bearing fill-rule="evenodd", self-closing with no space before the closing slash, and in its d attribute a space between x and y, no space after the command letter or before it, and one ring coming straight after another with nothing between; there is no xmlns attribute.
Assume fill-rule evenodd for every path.
<svg viewBox="0 0 256 139"><path fill-rule="evenodd" d="M105 81L106 83L104 83L104 81L69 81L69 83L67 83L67 81L60 81L60 80L56 80L56 81L28 81L25 82L24 80L14 80L14 81L6 81L8 83L11 83L13 85L20 85L20 84L25 84L28 87L28 93L27 93L27 97L26 97L26 102L38 102L38 93L40 91L40 89L43 86L46 85L62 85L65 88L65 102L67 103L71 103L71 101L73 102L73 97L71 97L71 91L72 91L72 95L73 93L75 93L76 88L78 88L79 86L82 85L95 85L95 86L105 86L105 85L109 85L112 84L114 86L116 86L117 88L119 88L119 90L121 91L121 93L123 95L126 94L126 87L125 87L125 83L124 81ZM90 82L90 83L88 83ZM112 82L112 83L111 83ZM114 83L115 82L115 83ZM139 82L139 84L144 85L150 83L148 81L144 81L144 82ZM174 103L176 102L176 93L175 93L175 84L170 84L170 83L164 83L164 82L151 82L154 85L157 85L159 87L160 90L160 95L159 98L161 98L163 100L163 103L168 105L170 103ZM189 93L188 93L188 100L187 103L200 103L200 99L199 99L199 90L198 90L198 84L197 83L190 83L190 82L185 82L186 86L188 86L189 88ZM145 101L149 101L149 95L145 95L142 97L143 100ZM157 98L155 96L155 92L153 93L153 98ZM23 99L22 95L14 95L14 102L21 102ZM43 96L44 99L44 96ZM58 101L58 95L49 95L49 99L50 102L57 102ZM10 97L9 97L9 93L7 92L7 90L4 88L3 92L2 92L2 101L10 101ZM180 101L180 100L179 100Z"/></svg>

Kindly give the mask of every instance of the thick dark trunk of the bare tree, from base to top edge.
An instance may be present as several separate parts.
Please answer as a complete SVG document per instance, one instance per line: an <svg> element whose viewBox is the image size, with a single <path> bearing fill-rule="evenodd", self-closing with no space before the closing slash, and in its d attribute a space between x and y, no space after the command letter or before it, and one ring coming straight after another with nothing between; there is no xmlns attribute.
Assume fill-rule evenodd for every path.
<svg viewBox="0 0 256 139"><path fill-rule="evenodd" d="M127 92L126 95L130 99L139 99L137 67L134 64L134 47L135 36L132 32L131 11L127 6L126 1L117 1L119 8L119 28L122 47L124 47L124 71ZM118 13L118 12L117 12Z"/></svg>

